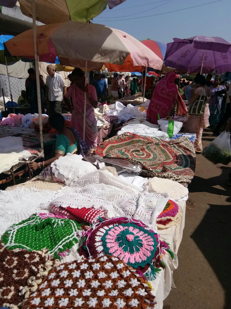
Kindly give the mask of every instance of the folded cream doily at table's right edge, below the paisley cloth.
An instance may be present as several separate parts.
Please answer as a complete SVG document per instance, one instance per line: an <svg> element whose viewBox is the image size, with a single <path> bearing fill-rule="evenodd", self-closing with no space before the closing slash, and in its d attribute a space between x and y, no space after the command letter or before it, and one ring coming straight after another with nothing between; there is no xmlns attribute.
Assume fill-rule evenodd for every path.
<svg viewBox="0 0 231 309"><path fill-rule="evenodd" d="M167 192L174 199L188 195L187 188L179 182L170 179L153 177L145 185L148 186L149 192Z"/></svg>

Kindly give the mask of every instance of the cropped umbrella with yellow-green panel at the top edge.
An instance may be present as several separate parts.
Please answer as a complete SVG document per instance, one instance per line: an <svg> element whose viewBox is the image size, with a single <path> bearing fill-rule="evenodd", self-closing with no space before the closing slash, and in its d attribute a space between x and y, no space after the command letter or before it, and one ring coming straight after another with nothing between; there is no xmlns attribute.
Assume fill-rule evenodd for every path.
<svg viewBox="0 0 231 309"><path fill-rule="evenodd" d="M41 23L61 23L69 20L86 22L126 0L20 0L22 14L32 17L32 2L35 2L36 20ZM17 0L0 0L0 5L14 7Z"/></svg>

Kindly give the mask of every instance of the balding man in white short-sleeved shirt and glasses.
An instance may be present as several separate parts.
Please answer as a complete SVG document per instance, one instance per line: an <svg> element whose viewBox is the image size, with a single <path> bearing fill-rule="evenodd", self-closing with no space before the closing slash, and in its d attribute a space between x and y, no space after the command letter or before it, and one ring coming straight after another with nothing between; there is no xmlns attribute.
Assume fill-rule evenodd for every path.
<svg viewBox="0 0 231 309"><path fill-rule="evenodd" d="M62 76L55 72L55 67L52 64L47 66L47 73L46 98L48 96L49 101L47 114L51 115L53 112L62 114L62 100L67 92L67 86L64 83Z"/></svg>

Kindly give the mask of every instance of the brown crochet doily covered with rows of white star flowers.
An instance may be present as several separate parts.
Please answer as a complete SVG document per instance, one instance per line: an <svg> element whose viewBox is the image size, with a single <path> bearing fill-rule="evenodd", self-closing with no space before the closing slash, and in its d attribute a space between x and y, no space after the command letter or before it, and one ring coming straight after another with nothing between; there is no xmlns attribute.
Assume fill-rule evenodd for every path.
<svg viewBox="0 0 231 309"><path fill-rule="evenodd" d="M152 309L154 305L155 296L135 269L117 257L103 256L52 269L22 309Z"/></svg>

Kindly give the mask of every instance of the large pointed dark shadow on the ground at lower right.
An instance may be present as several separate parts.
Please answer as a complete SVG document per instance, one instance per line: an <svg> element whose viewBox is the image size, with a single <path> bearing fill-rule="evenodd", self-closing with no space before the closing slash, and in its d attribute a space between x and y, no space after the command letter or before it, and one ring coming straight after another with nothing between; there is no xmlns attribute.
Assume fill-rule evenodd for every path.
<svg viewBox="0 0 231 309"><path fill-rule="evenodd" d="M224 309L230 309L231 276L229 257L231 248L231 207L230 205L209 205L209 210L207 210L200 225L191 237L213 268L214 273L216 273L225 290ZM219 304L217 304L217 308L220 308Z"/></svg>

